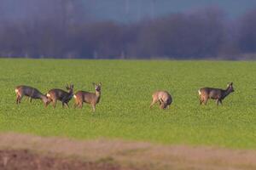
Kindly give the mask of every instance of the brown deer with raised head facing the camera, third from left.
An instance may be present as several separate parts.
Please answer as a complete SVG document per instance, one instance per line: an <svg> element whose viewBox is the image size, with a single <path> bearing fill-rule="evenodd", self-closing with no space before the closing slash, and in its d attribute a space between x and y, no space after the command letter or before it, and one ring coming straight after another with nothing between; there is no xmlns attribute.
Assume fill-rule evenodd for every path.
<svg viewBox="0 0 256 170"><path fill-rule="evenodd" d="M93 111L96 110L96 104L99 103L101 99L102 82L98 84L93 82L92 84L95 87L95 93L79 91L74 94L75 107L79 106L79 108L82 108L85 102L91 105Z"/></svg>

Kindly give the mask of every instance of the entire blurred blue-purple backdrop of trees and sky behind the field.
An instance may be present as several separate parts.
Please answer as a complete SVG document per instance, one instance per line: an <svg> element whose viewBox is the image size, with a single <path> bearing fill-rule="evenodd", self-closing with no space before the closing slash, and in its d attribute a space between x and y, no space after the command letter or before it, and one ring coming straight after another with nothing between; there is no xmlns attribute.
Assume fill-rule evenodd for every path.
<svg viewBox="0 0 256 170"><path fill-rule="evenodd" d="M0 57L256 59L255 0L0 0Z"/></svg>

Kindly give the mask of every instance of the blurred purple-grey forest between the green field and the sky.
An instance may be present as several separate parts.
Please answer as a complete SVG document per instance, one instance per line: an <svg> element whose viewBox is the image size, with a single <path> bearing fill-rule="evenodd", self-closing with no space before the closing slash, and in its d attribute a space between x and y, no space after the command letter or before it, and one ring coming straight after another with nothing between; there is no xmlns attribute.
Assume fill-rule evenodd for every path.
<svg viewBox="0 0 256 170"><path fill-rule="evenodd" d="M234 20L222 9L208 7L120 23L93 20L79 2L45 0L38 14L20 20L9 20L1 5L0 56L256 59L256 8Z"/></svg>

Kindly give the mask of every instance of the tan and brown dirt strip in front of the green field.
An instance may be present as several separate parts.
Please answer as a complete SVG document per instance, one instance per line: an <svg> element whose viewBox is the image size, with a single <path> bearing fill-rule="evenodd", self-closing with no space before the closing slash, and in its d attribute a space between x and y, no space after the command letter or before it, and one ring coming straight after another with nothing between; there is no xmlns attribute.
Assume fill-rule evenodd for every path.
<svg viewBox="0 0 256 170"><path fill-rule="evenodd" d="M61 162L66 162L67 167L73 167L76 164L81 165L80 168L69 167L66 169L256 169L256 150L160 145L123 140L74 140L55 137L45 138L20 133L0 133L0 150L0 167L1 165L2 167L8 165L6 160L9 160L9 157L12 158L12 164L15 164L15 160L19 164L19 161L25 162L27 160L21 159L22 156L32 156L32 162L35 160L45 162L44 160L47 159L51 161L46 164L55 164L55 167L38 168L40 166L44 167L39 163L40 166L37 164L37 168L31 169L65 169L61 166L66 164L61 164ZM19 157L19 159L14 157ZM7 167L6 169L11 169Z"/></svg>

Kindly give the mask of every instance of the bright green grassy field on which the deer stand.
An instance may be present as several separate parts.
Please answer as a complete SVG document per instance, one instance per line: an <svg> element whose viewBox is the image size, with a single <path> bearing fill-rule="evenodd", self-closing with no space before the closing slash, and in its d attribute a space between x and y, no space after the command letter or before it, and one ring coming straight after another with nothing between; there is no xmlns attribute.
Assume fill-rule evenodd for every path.
<svg viewBox="0 0 256 170"><path fill-rule="evenodd" d="M0 71L1 132L256 149L256 62L0 59ZM231 81L235 93L224 105L199 105L199 88ZM17 85L46 93L73 83L75 91L94 91L91 82L102 82L95 114L90 105L73 109L73 99L69 109L26 98L15 104ZM158 89L172 94L167 111L148 108Z"/></svg>

